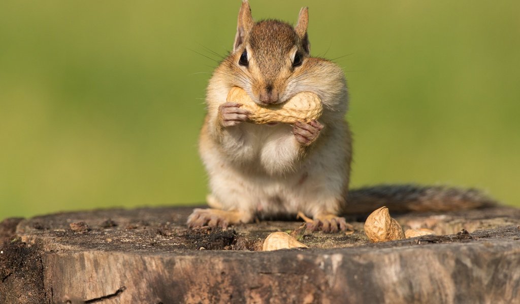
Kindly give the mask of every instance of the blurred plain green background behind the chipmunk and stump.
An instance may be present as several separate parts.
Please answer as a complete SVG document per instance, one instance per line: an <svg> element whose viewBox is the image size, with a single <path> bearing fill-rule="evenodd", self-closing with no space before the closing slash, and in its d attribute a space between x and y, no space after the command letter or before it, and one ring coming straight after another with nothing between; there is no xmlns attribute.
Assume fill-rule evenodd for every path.
<svg viewBox="0 0 520 304"><path fill-rule="evenodd" d="M520 205L520 2L251 2L289 22L309 6L311 53L344 68L352 186L471 186ZM197 52L230 50L239 6L0 2L0 219L202 202L217 63Z"/></svg>

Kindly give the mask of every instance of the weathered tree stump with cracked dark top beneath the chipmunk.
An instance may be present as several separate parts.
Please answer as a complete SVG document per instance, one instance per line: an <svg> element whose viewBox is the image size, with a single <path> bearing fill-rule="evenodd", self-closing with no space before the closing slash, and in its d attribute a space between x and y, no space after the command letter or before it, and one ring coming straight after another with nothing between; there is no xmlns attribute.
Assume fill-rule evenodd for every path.
<svg viewBox="0 0 520 304"><path fill-rule="evenodd" d="M262 221L188 230L191 208L110 209L0 224L0 303L513 303L520 210L393 216L439 235L371 244ZM365 215L366 216L366 215ZM310 248L258 252L271 232Z"/></svg>

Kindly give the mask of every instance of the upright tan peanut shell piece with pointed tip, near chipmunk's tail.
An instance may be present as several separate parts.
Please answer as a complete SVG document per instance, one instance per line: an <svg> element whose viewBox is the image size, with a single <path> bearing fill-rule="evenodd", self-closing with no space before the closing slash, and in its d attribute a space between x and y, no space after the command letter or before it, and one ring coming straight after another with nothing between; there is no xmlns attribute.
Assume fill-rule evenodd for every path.
<svg viewBox="0 0 520 304"><path fill-rule="evenodd" d="M386 207L381 207L368 216L365 222L365 234L372 243L405 238L401 225L390 216Z"/></svg>

